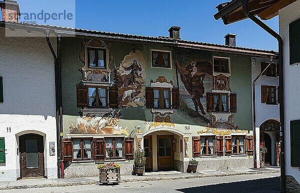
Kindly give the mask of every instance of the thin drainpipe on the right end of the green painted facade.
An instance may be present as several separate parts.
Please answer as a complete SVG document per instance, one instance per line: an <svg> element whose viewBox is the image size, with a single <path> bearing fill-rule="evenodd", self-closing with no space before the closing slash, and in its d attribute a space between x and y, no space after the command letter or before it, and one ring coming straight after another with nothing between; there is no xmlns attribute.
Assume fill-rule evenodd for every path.
<svg viewBox="0 0 300 193"><path fill-rule="evenodd" d="M257 75L257 77L253 80L252 90L253 90L253 137L254 137L254 168L257 168L257 156L256 156L256 111L255 111L255 82L256 80L263 74L263 72L268 68L268 66L272 63L273 56L270 56L269 64Z"/></svg>

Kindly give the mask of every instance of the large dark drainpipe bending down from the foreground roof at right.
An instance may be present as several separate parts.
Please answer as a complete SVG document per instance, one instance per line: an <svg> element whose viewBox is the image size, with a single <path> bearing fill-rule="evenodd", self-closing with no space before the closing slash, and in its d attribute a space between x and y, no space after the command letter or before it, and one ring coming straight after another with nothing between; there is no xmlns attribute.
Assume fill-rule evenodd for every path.
<svg viewBox="0 0 300 193"><path fill-rule="evenodd" d="M280 119L280 192L285 192L285 158L284 158L284 84L283 84L283 40L281 36L248 11L248 0L242 0L244 14L263 28L278 41L279 52L279 119Z"/></svg>

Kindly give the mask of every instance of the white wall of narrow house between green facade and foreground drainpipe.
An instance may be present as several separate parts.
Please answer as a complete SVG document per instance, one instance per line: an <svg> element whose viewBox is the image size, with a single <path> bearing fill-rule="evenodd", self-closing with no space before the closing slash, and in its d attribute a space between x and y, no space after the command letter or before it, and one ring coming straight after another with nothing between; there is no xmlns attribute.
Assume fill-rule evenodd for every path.
<svg viewBox="0 0 300 193"><path fill-rule="evenodd" d="M251 82L258 76L261 72L261 62L269 62L267 57L252 57L252 69L251 69ZM278 62L278 60L272 60L272 62ZM279 85L279 76L271 77L266 75L261 75L255 82L255 143L256 143L256 157L257 157L257 167L259 167L259 126L267 119L274 119L279 121L279 104L266 104L261 103L261 85ZM253 90L252 90L253 94ZM253 100L253 99L252 99ZM252 101L253 105L253 101ZM253 109L252 109L253 110ZM276 155L276 149L272 148L272 156ZM273 162L276 158L272 157Z"/></svg>

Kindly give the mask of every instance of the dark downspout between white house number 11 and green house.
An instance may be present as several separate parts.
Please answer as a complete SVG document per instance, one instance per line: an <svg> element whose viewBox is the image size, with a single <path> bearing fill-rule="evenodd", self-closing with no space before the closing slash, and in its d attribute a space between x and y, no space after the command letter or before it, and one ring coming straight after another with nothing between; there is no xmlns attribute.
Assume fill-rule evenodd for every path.
<svg viewBox="0 0 300 193"><path fill-rule="evenodd" d="M57 65L57 56L55 54L55 51L52 47L52 44L49 39L50 31L48 29L45 30L46 32L46 42L49 46L49 49L53 55L54 58L54 74L55 74L55 103L56 103L56 144L57 144L57 177L60 178L60 124L59 124L59 89L58 89L58 65Z"/></svg>

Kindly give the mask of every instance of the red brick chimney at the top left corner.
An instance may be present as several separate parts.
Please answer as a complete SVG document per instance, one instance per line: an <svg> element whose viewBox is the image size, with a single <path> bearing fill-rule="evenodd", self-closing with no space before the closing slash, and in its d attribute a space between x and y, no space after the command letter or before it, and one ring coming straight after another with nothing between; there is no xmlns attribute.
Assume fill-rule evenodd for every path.
<svg viewBox="0 0 300 193"><path fill-rule="evenodd" d="M18 15L20 15L20 8L15 0L0 1L2 11L2 21L18 22Z"/></svg>

